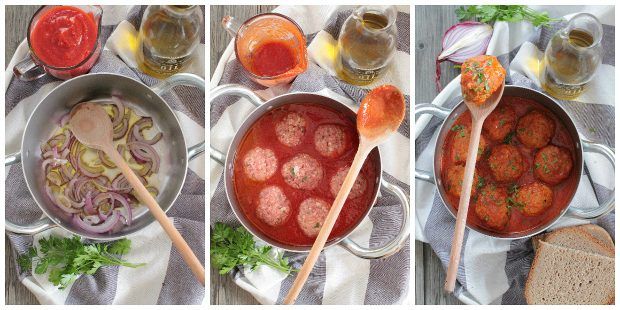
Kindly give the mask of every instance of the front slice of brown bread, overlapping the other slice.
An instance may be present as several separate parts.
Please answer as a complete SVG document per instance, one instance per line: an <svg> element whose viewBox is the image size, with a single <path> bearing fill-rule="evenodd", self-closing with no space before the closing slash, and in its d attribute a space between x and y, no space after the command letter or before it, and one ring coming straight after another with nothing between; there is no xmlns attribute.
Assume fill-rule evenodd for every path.
<svg viewBox="0 0 620 310"><path fill-rule="evenodd" d="M528 304L612 304L614 259L540 241L525 283Z"/></svg>

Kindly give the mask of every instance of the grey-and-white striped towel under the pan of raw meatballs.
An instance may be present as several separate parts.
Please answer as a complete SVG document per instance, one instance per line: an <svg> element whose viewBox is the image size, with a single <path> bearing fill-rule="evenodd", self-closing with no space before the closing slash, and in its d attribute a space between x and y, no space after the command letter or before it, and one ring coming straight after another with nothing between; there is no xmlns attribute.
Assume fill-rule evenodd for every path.
<svg viewBox="0 0 620 310"><path fill-rule="evenodd" d="M307 72L299 75L288 92L317 92L336 98L357 109L369 88L385 83L400 87L409 106L409 7L399 8L396 20L399 37L397 54L392 70L381 81L368 88L346 84L329 74L331 67L321 60L321 46L334 44L338 32L353 7L296 6L278 7L275 11L291 17L304 30L309 43L310 64ZM235 59L232 43L224 52L211 87L237 83L257 90L262 95L273 95L281 89L264 89L249 80ZM211 145L226 150L238 126L253 106L245 99L220 97L211 102ZM381 147L383 177L409 193L409 113L404 124L386 145ZM225 222L241 225L235 218L224 192L222 167L211 161L211 225ZM394 197L381 196L370 215L351 235L359 244L376 247L396 235L402 211ZM364 260L340 247L330 247L321 253L308 282L301 291L300 304L397 304L407 300L409 289L409 241L405 247L385 259ZM286 253L285 256L300 267L305 254ZM263 304L281 303L294 277L284 276L261 266L250 272L244 268L230 274L235 283L250 292Z"/></svg>

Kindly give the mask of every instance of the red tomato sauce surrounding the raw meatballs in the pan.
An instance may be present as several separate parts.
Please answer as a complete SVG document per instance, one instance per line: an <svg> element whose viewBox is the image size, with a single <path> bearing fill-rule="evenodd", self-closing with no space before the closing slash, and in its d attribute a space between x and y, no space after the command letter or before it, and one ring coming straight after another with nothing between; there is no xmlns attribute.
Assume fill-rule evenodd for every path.
<svg viewBox="0 0 620 310"><path fill-rule="evenodd" d="M299 113L306 120L306 131L302 142L295 147L285 146L278 141L276 136L276 124L289 112ZM347 136L350 137L349 147L337 158L323 157L314 147L314 132L318 126L323 124L343 126L346 128ZM340 168L349 166L353 162L358 144L359 138L355 130L355 121L347 118L342 113L322 105L311 103L288 104L261 116L246 133L234 159L233 187L244 216L255 228L273 240L295 246L312 245L315 237L306 236L297 223L299 204L306 198L317 197L325 200L331 206L335 198L330 190L329 183L331 177ZM266 181L254 181L247 177L243 170L244 156L255 147L269 148L273 150L278 158L276 173ZM281 174L282 165L301 153L312 156L323 167L323 179L315 189L295 189L284 181ZM347 199L328 240L348 234L362 220L362 217L371 207L374 193L378 190L379 178L375 165L378 158L373 154L371 153L371 156L368 157L360 171L361 176L366 179L368 184L365 192L358 198ZM282 225L276 227L265 224L256 215L259 193L263 188L270 185L277 185L282 188L291 203L289 217Z"/></svg>

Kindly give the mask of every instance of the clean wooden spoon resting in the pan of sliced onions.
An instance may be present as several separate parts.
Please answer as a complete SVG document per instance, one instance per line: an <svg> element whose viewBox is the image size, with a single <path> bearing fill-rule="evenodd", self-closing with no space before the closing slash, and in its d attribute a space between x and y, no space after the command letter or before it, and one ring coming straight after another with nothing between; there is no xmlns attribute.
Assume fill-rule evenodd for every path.
<svg viewBox="0 0 620 310"><path fill-rule="evenodd" d="M82 144L102 150L121 169L121 172L134 188L138 199L146 205L153 217L159 222L164 231L172 240L172 244L177 248L185 263L190 267L198 281L205 285L205 269L194 254L192 249L183 239L179 231L174 227L172 221L166 216L155 198L151 196L149 191L144 187L140 179L135 175L133 170L129 168L123 157L116 151L112 142L112 121L108 113L101 105L85 102L78 104L71 110L71 118L69 120L69 128L75 137Z"/></svg>

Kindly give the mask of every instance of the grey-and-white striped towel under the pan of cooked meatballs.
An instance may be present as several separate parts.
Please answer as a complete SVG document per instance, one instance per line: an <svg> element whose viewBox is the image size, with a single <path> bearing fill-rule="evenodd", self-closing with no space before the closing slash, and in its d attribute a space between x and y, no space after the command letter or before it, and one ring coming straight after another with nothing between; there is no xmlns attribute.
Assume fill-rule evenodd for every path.
<svg viewBox="0 0 620 310"><path fill-rule="evenodd" d="M588 91L574 101L560 101L576 122L582 136L595 142L614 146L614 7L535 7L550 16L564 17L551 27L534 28L527 23L494 25L487 54L496 55L507 70L507 83L540 90L538 67L549 39L566 25L576 12L595 14L603 23L603 64ZM461 98L459 83L452 83L434 104L451 108ZM447 99L446 99L447 98ZM418 120L422 122L422 117ZM433 167L434 145L441 120L430 119L428 124L416 124L416 168L430 171ZM585 153L585 169L579 189L571 206L587 209L606 201L615 189L611 165L600 155ZM423 193L434 193L433 195ZM615 212L599 218L596 223L614 236ZM577 225L586 221L562 218L551 229ZM416 239L430 243L444 267L450 259L454 218L445 209L435 185L416 181ZM457 275L455 296L468 304L524 304L523 289L534 258L530 239L499 240L466 230Z"/></svg>

